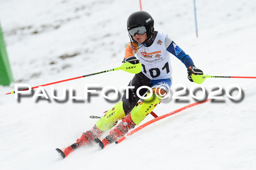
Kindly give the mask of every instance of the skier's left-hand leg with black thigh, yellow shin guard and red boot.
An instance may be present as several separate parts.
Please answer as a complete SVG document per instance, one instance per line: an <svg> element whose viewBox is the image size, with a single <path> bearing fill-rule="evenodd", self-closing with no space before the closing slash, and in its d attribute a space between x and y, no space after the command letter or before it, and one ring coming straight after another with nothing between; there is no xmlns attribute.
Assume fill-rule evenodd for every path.
<svg viewBox="0 0 256 170"><path fill-rule="evenodd" d="M148 79L145 75L143 75L142 72L140 72L139 74L135 74L131 82L128 84L128 86L135 87L134 89L129 89L128 99L126 99L126 92L125 92L123 95L122 102L117 103L115 106L110 108L110 110L108 110L106 114L102 116L102 118L95 123L94 127L91 130L83 133L82 136L79 139L77 139L76 143L74 143L71 146L68 146L62 149L56 149L56 150L59 153L62 152L62 156L64 158L64 157L67 157L67 155L71 153L74 149L80 146L89 145L90 143L93 142L94 138L101 137L101 135L105 131L110 130L116 124L117 120L121 120L131 112L132 108L136 105L136 103L140 99L136 94L136 90L140 86L149 86L149 85L150 85L150 79ZM146 93L145 89L140 90L140 95L143 95L145 93ZM131 120L130 117L127 116L127 118L123 119L122 122L127 121L129 124L130 120ZM131 127L129 128L132 128L134 126L135 126L134 123L132 123Z"/></svg>

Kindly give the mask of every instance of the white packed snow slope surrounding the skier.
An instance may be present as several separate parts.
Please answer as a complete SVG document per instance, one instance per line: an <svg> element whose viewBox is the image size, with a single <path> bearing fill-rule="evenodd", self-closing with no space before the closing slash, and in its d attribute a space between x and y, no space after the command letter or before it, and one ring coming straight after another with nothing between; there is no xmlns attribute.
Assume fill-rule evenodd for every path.
<svg viewBox="0 0 256 170"><path fill-rule="evenodd" d="M142 8L153 16L155 30L167 33L205 74L256 76L256 1L197 0L198 38L192 0L142 0ZM133 75L113 71L47 86L45 100L4 95L15 84L33 87L119 67L129 43L127 18L139 9L138 0L0 1L15 78L11 86L0 86L0 169L256 169L256 79L208 78L202 84L207 94L219 84L222 92L215 95L223 99L162 119L118 145L82 148L66 159L55 149L74 143L96 122L90 115L102 116L120 100L107 102L97 91L99 96L89 102L84 85L114 86L122 95L120 86L127 86ZM184 84L187 93L180 95L188 98L162 100L154 110L158 116L196 102L187 69L170 57L171 89ZM241 87L238 99L226 94L231 84ZM82 99L56 102L51 87L58 96L72 87ZM141 124L151 119L148 115Z"/></svg>

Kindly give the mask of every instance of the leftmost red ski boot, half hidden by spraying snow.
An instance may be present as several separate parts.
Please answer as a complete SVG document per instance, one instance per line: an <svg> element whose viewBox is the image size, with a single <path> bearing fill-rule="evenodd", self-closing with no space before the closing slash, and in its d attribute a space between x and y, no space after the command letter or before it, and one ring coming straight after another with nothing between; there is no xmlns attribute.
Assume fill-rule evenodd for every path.
<svg viewBox="0 0 256 170"><path fill-rule="evenodd" d="M83 133L82 136L76 140L76 143L71 146L64 147L62 149L57 148L55 150L61 155L61 157L66 158L75 149L92 144L93 139L101 137L103 133L103 131L99 130L98 127L94 125L93 129Z"/></svg>

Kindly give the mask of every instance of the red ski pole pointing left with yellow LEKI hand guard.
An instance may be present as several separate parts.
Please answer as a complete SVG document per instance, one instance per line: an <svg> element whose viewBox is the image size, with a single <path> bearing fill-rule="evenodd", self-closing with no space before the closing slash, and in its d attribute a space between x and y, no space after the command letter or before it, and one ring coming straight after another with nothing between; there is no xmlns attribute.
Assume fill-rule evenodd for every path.
<svg viewBox="0 0 256 170"><path fill-rule="evenodd" d="M84 76L79 76L79 77L74 77L74 78L71 78L71 79L66 79L66 80L61 80L61 81L57 81L57 82L53 82L53 83L48 83L48 84L43 84L41 85L42 87L43 86L49 86L51 84L57 84L57 83L61 83L61 82L67 82L69 80L75 80L75 79L80 79L80 78L84 78L84 77L88 77L88 76L93 76L93 75L97 75L97 74L101 74L101 73L105 73L105 72L110 72L110 71L116 71L116 70L124 70L126 72L129 72L129 73L133 73L133 74L137 74L139 72L142 71L142 65L141 63L138 63L138 64L131 64L129 62L126 62L124 64L122 64L122 66L120 67L117 67L117 68L113 68L113 69L110 69L110 70L106 70L106 71L101 71L101 72L97 72L97 73L93 73L93 74L88 74L88 75L84 75ZM31 89L33 88L38 88L39 86L35 86L35 87L31 87ZM23 89L23 90L20 90L20 91L25 91L25 90L29 90L29 88L26 88L26 89ZM7 94L12 94L14 95L15 91L12 90L12 92L10 93L7 93ZM5 95L7 95L5 94Z"/></svg>

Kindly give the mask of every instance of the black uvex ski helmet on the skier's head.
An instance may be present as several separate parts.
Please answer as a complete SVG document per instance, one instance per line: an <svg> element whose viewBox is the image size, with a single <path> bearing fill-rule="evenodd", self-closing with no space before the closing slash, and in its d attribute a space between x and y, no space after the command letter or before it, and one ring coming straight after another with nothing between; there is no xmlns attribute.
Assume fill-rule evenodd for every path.
<svg viewBox="0 0 256 170"><path fill-rule="evenodd" d="M154 33L154 19L146 11L133 12L127 20L127 29L132 27L145 26L147 30L147 37ZM130 34L131 35L131 34ZM132 37L132 35L131 35Z"/></svg>

